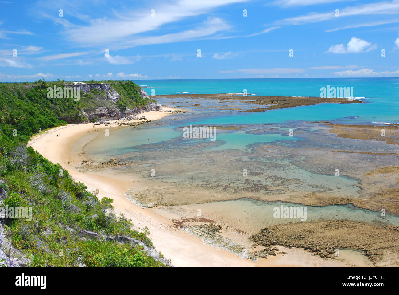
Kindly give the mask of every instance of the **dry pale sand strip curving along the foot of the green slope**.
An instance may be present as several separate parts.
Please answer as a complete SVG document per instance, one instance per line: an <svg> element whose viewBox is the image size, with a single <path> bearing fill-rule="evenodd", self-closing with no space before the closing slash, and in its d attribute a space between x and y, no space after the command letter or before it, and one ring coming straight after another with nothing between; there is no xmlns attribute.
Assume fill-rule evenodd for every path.
<svg viewBox="0 0 399 295"><path fill-rule="evenodd" d="M150 112L143 113L149 120L158 118L148 116ZM167 113L162 113L167 114ZM83 155L74 153L81 147L71 146L79 138L94 130L105 130L106 128L123 128L115 126L96 126L93 124L68 124L46 130L32 138L28 146L32 146L43 157L54 163L59 163L68 170L75 181L83 182L89 190L99 190L98 197L109 197L114 199L114 212L123 213L125 217L132 219L132 223L142 229L148 227L150 238L157 251L171 259L174 266L179 267L248 267L254 263L241 259L241 257L225 250L217 250L209 245L203 244L193 235L184 231L174 229L173 223L163 219L156 213L142 209L125 197L127 187L132 183L115 178L104 177L91 173L79 172L73 168L72 163L85 159ZM56 134L60 133L57 137Z"/></svg>

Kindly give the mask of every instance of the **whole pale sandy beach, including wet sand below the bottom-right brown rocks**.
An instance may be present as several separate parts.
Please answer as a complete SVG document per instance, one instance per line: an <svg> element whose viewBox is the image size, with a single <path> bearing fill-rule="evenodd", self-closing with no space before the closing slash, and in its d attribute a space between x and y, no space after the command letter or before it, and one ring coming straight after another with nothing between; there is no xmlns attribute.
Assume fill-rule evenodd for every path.
<svg viewBox="0 0 399 295"><path fill-rule="evenodd" d="M166 108L164 110L178 110ZM168 116L170 113L151 111L140 114L146 120L157 120ZM189 116L186 114L185 116ZM132 120L130 122L140 122ZM46 130L34 136L29 142L41 155L59 163L69 171L69 174L76 180L87 185L90 191L99 190L98 197L109 197L114 200L115 214L123 213L132 220L132 223L139 228L148 228L150 238L157 251L171 259L172 265L176 267L342 267L342 266L372 266L367 257L352 251L342 251L338 259L323 259L314 256L312 253L300 248L288 248L278 246L279 251L285 254L260 258L251 261L231 253L225 249L219 249L204 243L201 239L176 228L174 223L164 216L149 208L141 208L126 198L126 189L132 187L132 181L122 179L115 175L105 173L80 172L74 168L77 163L86 160L82 153L83 146L87 142L79 142L73 145L79 138L98 133L107 128L125 128L117 121L108 126L94 126L88 124L68 124L66 126ZM97 134L95 134L97 133ZM57 137L57 134L59 136ZM90 138L90 136L88 137Z"/></svg>

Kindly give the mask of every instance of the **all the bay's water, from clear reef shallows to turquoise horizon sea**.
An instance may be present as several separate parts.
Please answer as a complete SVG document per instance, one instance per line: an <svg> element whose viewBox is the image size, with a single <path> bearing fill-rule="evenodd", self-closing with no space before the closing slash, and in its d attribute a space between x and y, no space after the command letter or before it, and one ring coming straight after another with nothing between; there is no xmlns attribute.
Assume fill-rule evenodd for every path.
<svg viewBox="0 0 399 295"><path fill-rule="evenodd" d="M388 177L373 182L365 173L398 165L397 146L338 138L315 121L398 124L398 78L140 80L138 84L148 87L144 89L149 94L155 89L160 104L189 112L170 114L136 128L110 129L109 137L99 133L84 151L96 162L112 158L133 163L112 168L109 173L135 179L127 194L142 207L181 213L182 218L190 214L196 217L196 210L203 208L205 217L208 212L220 224L237 224L240 231L255 233L271 224L276 202L289 206L305 203L312 196L344 197L373 199L375 208L381 208L374 193L394 185ZM245 109L248 104L180 96L243 89L254 95L320 96L320 88L327 85L353 87L354 96L365 103L243 113L235 107ZM162 97L166 94L174 96ZM216 140L184 138L183 127L190 124L214 127ZM290 131L293 136L289 136ZM379 218L378 210L332 205L314 207L309 214L312 218L378 219L399 224L389 210L386 219ZM241 222L244 215L246 221Z"/></svg>

